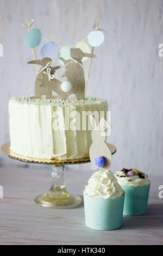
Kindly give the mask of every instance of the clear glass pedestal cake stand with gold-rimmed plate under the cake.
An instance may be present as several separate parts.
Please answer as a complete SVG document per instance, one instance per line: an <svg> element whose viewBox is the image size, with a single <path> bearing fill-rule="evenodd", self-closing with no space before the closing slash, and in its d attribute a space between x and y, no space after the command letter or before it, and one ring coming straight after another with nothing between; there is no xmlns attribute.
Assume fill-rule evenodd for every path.
<svg viewBox="0 0 163 256"><path fill-rule="evenodd" d="M107 143L111 154L116 152L116 147ZM10 150L10 142L5 143L1 147L2 153L12 159L19 160L27 163L42 163L52 165L52 185L50 190L45 194L40 194L35 198L36 204L45 208L52 209L70 209L74 208L82 202L82 198L70 194L66 190L65 185L65 164L82 164L89 163L90 158L72 159L72 160L55 160L55 159L34 159L32 157L25 157L18 155Z"/></svg>

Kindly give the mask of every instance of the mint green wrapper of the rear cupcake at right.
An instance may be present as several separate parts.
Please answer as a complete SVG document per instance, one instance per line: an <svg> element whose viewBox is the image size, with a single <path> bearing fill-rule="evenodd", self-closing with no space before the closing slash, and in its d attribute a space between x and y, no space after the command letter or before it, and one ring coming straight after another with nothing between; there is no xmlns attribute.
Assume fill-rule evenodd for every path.
<svg viewBox="0 0 163 256"><path fill-rule="evenodd" d="M123 215L135 216L145 214L150 184L137 187L121 185L121 187L125 191Z"/></svg>

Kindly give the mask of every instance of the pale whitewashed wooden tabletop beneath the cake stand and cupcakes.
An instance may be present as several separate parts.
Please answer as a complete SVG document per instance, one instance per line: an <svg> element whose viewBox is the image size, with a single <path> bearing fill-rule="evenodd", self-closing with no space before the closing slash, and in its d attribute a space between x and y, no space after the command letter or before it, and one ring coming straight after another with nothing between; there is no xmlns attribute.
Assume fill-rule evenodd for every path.
<svg viewBox="0 0 163 256"><path fill-rule="evenodd" d="M87 164L86 164L87 165ZM89 169L89 165L87 165ZM84 224L83 204L75 209L53 210L36 205L35 196L51 185L51 168L34 164L0 167L1 245L161 245L163 244L163 199L158 197L162 176L149 177L151 191L146 215L123 218L120 229L92 230ZM82 195L92 171L66 169L68 191Z"/></svg>

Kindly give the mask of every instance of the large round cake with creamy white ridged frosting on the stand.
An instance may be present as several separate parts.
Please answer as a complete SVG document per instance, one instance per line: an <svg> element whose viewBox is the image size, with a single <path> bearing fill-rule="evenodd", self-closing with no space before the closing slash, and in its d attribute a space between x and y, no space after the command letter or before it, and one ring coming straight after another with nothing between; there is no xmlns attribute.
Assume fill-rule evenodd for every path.
<svg viewBox="0 0 163 256"><path fill-rule="evenodd" d="M69 114L67 113L69 109ZM87 97L84 100L31 99L30 97L12 98L9 101L10 149L15 153L40 159L80 159L89 156L92 143L91 130L77 129L77 114L80 123L83 112L106 111L106 100ZM58 112L59 111L59 112ZM58 122L62 129L55 129ZM65 129L65 116L74 129ZM68 119L67 119L68 117Z"/></svg>

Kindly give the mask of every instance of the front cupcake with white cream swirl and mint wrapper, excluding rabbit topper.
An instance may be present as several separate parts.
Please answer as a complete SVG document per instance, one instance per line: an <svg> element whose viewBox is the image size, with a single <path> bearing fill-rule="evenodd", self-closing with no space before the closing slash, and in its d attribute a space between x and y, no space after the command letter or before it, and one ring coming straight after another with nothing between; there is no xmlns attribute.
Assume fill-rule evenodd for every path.
<svg viewBox="0 0 163 256"><path fill-rule="evenodd" d="M113 230L122 225L124 191L110 170L92 174L84 190L85 223L99 230Z"/></svg>

